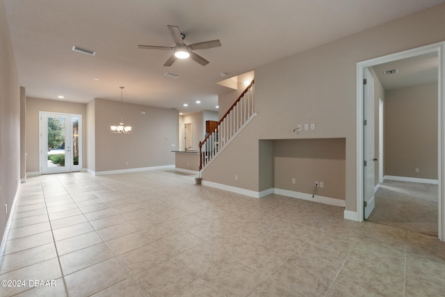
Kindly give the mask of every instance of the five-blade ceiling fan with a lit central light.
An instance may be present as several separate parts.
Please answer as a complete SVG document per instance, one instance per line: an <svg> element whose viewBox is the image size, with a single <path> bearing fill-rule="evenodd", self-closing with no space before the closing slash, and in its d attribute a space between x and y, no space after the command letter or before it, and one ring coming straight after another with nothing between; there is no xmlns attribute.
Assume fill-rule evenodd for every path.
<svg viewBox="0 0 445 297"><path fill-rule="evenodd" d="M175 51L170 58L168 58L167 62L165 62L164 66L171 66L178 58L188 58L190 57L193 61L200 63L202 66L209 64L209 61L202 58L202 56L195 54L193 51L195 49L211 49L212 47L220 47L221 42L219 39L209 40L204 42L193 43L193 45L186 45L184 43L184 39L186 35L179 31L178 26L170 26L168 25L168 30L170 30L170 34L172 35L173 40L176 43L175 47L160 47L156 45L138 45L140 49L168 49Z"/></svg>

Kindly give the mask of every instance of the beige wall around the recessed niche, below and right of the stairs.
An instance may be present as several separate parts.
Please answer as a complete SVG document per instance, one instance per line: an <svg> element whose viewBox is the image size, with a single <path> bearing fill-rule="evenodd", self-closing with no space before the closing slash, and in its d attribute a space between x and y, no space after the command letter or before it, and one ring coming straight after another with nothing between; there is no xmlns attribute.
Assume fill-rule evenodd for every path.
<svg viewBox="0 0 445 297"><path fill-rule="evenodd" d="M255 69L258 115L202 178L259 191L259 139L345 138L346 210L356 211L357 62L445 40L444 15L445 5L435 6ZM316 131L292 132L311 122Z"/></svg>

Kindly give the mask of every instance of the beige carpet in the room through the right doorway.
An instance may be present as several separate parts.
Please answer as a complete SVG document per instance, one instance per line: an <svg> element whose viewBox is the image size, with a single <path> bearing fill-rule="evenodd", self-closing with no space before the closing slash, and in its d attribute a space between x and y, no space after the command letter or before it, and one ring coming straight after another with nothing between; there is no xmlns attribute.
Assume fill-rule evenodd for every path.
<svg viewBox="0 0 445 297"><path fill-rule="evenodd" d="M385 181L375 193L374 223L437 236L438 186Z"/></svg>

